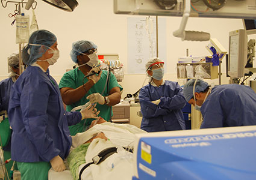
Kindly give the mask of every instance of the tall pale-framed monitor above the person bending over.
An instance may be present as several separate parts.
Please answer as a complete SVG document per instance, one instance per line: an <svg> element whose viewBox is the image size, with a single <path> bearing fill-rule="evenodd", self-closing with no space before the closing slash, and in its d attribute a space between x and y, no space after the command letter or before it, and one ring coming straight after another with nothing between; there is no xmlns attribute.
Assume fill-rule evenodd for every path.
<svg viewBox="0 0 256 180"><path fill-rule="evenodd" d="M245 29L229 32L228 75L243 77L247 62L247 34Z"/></svg>

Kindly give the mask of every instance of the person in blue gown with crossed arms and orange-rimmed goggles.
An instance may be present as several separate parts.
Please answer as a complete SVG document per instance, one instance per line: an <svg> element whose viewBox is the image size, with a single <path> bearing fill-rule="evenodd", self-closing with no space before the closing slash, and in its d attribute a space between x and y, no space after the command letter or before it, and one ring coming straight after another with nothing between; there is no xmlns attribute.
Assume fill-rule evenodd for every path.
<svg viewBox="0 0 256 180"><path fill-rule="evenodd" d="M181 109L186 105L183 89L178 82L163 80L164 62L152 58L146 63L149 84L140 89L142 130L148 132L184 130L185 121Z"/></svg>

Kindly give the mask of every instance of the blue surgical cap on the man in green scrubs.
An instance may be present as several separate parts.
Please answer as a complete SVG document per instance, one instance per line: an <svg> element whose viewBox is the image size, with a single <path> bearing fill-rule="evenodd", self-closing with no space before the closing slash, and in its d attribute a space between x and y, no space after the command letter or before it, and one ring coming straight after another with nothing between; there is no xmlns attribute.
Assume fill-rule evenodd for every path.
<svg viewBox="0 0 256 180"><path fill-rule="evenodd" d="M89 49L97 49L96 44L94 44L92 41L76 41L72 44L72 50L70 51L70 57L73 62L77 63L77 56L81 55L81 53L86 52Z"/></svg>

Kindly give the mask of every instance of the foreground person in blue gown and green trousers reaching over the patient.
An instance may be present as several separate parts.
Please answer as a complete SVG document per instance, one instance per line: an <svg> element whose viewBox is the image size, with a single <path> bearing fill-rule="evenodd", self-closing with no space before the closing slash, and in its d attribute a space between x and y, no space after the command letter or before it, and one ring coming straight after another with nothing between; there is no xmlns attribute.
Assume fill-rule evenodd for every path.
<svg viewBox="0 0 256 180"><path fill-rule="evenodd" d="M11 87L8 108L13 128L11 158L17 161L22 180L46 180L51 167L58 172L66 169L63 160L72 145L68 126L96 118L99 112L92 106L81 113L64 110L58 84L48 68L59 57L52 32L33 32L22 56L28 67Z"/></svg>

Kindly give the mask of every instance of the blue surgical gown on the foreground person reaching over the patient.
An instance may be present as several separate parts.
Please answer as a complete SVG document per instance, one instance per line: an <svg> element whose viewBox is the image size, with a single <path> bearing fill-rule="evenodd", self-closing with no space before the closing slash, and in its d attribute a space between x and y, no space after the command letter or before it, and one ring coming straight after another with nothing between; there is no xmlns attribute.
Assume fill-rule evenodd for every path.
<svg viewBox="0 0 256 180"><path fill-rule="evenodd" d="M66 112L57 82L39 67L28 66L11 88L8 108L11 159L49 162L66 158L72 139L68 125L81 121L80 112Z"/></svg>

